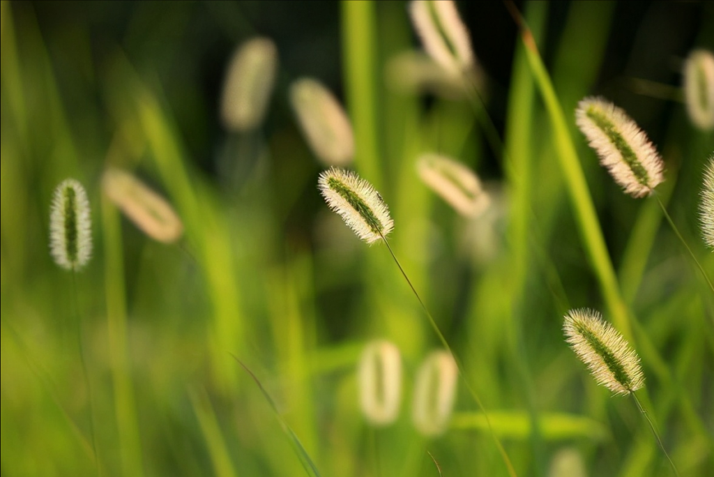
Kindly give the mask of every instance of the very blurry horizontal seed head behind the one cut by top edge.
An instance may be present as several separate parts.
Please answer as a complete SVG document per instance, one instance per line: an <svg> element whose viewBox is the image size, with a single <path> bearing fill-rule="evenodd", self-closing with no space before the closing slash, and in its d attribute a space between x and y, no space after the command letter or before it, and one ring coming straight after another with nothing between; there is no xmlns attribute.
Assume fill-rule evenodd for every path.
<svg viewBox="0 0 714 477"><path fill-rule="evenodd" d="M403 94L435 94L444 99L458 100L466 97L466 78L483 90L483 75L474 68L454 76L423 51L403 51L389 59L385 80L393 91ZM483 91L482 91L483 94Z"/></svg>

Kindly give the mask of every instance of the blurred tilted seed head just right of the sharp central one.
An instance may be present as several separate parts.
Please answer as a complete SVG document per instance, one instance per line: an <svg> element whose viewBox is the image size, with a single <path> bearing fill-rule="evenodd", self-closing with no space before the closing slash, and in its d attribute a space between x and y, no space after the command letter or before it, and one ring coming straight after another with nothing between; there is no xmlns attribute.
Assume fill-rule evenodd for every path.
<svg viewBox="0 0 714 477"><path fill-rule="evenodd" d="M424 154L417 161L421 180L459 214L478 217L490 203L478 176L460 162L438 154Z"/></svg>

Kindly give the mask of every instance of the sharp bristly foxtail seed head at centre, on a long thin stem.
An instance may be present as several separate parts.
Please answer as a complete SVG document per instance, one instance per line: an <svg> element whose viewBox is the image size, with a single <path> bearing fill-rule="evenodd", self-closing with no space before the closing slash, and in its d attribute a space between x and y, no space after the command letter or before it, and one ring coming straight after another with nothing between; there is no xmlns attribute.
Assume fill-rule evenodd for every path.
<svg viewBox="0 0 714 477"><path fill-rule="evenodd" d="M320 174L318 189L330 209L363 241L374 243L394 228L382 196L356 173L331 167Z"/></svg>

